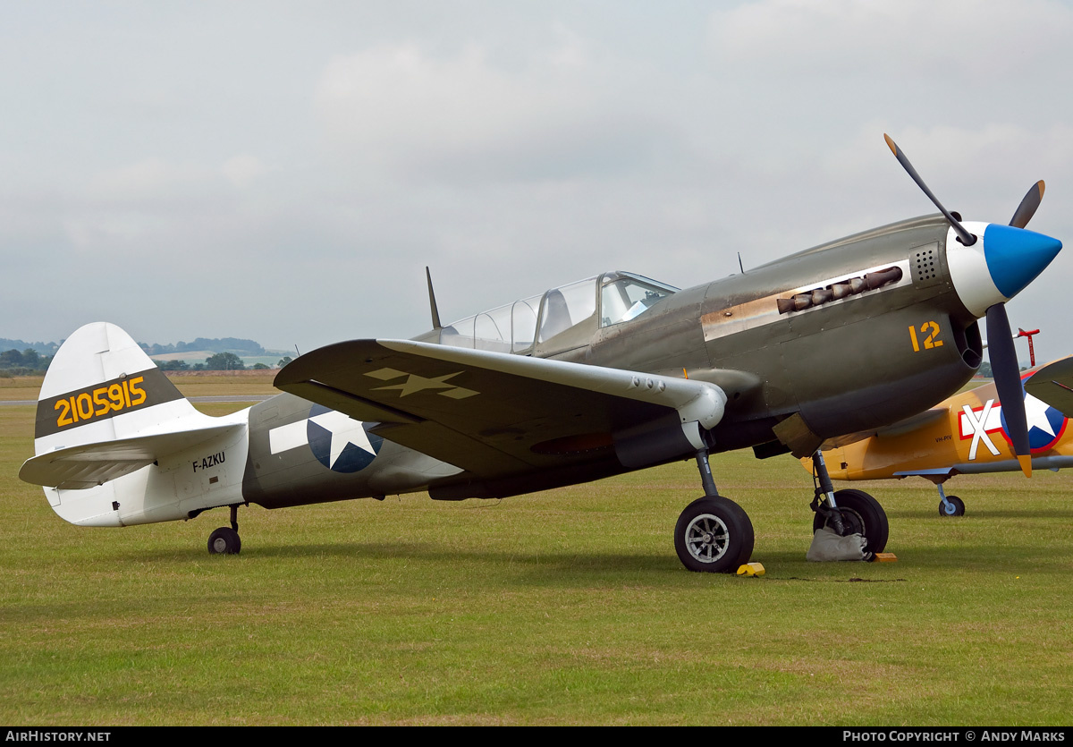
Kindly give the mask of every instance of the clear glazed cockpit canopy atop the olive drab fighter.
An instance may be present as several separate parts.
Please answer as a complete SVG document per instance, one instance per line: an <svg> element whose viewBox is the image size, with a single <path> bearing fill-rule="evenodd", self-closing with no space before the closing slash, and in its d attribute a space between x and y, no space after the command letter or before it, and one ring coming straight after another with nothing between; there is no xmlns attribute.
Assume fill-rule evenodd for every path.
<svg viewBox="0 0 1073 747"><path fill-rule="evenodd" d="M460 319L440 329L439 342L504 353L561 352L588 345L599 327L636 319L677 290L632 273L604 273Z"/></svg>

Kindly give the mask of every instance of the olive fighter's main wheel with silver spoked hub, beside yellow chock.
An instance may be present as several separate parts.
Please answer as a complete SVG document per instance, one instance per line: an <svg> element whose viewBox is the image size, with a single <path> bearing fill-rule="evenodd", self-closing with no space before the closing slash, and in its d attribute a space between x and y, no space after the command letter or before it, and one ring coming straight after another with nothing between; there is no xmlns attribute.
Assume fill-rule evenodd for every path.
<svg viewBox="0 0 1073 747"><path fill-rule="evenodd" d="M752 555L752 522L740 506L721 497L694 500L678 516L674 548L691 571L734 573Z"/></svg>

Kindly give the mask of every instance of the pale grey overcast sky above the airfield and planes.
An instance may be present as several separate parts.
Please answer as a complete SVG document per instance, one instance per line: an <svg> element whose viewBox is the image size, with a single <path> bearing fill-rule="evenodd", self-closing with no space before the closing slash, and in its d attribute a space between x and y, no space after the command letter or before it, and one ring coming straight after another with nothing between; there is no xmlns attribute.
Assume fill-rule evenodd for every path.
<svg viewBox="0 0 1073 747"><path fill-rule="evenodd" d="M1052 0L5 2L0 337L312 348L915 215L1073 243ZM1009 306L1073 352L1073 248ZM1018 342L1027 360L1027 346Z"/></svg>

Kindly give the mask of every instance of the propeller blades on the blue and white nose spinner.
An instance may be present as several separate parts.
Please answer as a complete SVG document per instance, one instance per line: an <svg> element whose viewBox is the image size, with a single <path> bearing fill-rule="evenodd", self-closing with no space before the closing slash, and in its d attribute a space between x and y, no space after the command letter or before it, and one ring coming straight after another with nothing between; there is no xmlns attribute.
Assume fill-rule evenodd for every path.
<svg viewBox="0 0 1073 747"><path fill-rule="evenodd" d="M906 155L898 149L894 141L886 134L883 135L887 146L894 152L895 158L902 169L912 177L913 181L924 191L928 199L935 203L936 207L950 221L958 240L965 246L972 246L976 237L969 233L961 222L954 217L936 195L924 184L916 170L906 158ZM1010 219L1010 225L1024 229L1028 221L1035 215L1035 209L1043 199L1044 184L1041 179L1028 190L1028 193L1020 201L1017 210ZM1025 391L1020 383L1020 367L1017 364L1017 351L1013 343L1013 333L1010 329L1010 318L1006 316L1005 304L999 303L988 307L985 319L987 321L987 349L991 361L991 376L995 377L995 389L1002 404L1002 413L1005 415L1006 433L1017 462L1020 463L1021 471L1031 477L1032 456L1028 442L1028 420L1025 414Z"/></svg>

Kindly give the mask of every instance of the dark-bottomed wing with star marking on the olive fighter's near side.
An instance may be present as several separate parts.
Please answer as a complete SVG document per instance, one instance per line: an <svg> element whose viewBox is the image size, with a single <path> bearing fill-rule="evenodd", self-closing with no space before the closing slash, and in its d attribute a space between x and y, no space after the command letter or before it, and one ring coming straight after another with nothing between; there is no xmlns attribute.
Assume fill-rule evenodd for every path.
<svg viewBox="0 0 1073 747"><path fill-rule="evenodd" d="M701 428L718 424L726 404L719 386L703 381L411 340L321 348L288 364L276 386L376 421L378 435L481 478L605 450L638 466L630 463L648 456L636 444L652 444L655 434L668 442L662 451L685 444L688 453L703 445ZM655 450L660 458L661 446Z"/></svg>

